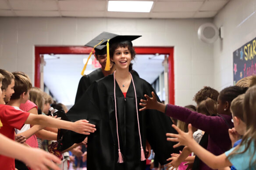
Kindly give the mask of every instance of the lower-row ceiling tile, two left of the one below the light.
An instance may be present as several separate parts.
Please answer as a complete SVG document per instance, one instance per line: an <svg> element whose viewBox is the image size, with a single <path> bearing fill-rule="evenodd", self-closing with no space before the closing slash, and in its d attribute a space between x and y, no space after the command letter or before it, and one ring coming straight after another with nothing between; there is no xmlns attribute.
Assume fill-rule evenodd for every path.
<svg viewBox="0 0 256 170"><path fill-rule="evenodd" d="M15 13L21 17L60 17L59 12L53 10L15 10Z"/></svg>

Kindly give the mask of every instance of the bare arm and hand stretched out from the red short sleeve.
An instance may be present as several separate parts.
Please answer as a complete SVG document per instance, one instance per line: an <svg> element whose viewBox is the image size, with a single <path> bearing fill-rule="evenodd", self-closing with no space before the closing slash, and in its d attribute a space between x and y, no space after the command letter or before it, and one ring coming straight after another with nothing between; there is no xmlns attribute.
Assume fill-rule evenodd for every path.
<svg viewBox="0 0 256 170"><path fill-rule="evenodd" d="M71 121L63 121L56 118L50 118L46 115L35 115L35 114L29 114L27 120L25 121L25 124L33 124L33 125L44 125L44 126L50 126L53 128L63 128L68 129L77 133L81 133L84 135L89 135L89 132L96 131L95 125L92 125L88 123L87 120L79 120L75 122Z"/></svg>

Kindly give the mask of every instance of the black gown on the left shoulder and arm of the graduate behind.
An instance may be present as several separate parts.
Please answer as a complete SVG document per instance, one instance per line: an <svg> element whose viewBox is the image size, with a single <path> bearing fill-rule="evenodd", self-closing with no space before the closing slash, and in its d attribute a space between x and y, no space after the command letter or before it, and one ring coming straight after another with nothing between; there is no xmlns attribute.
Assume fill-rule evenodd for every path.
<svg viewBox="0 0 256 170"><path fill-rule="evenodd" d="M75 103L82 97L88 87L96 80L100 80L104 77L104 74L101 71L101 68L94 70L92 73L82 76L79 83L75 96Z"/></svg>

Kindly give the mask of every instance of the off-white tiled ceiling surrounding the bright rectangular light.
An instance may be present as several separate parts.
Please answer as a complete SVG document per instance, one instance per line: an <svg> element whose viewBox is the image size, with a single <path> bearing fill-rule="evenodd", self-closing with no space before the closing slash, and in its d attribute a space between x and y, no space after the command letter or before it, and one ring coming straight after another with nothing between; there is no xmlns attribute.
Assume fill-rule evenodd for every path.
<svg viewBox="0 0 256 170"><path fill-rule="evenodd" d="M145 0L144 0L145 1ZM229 0L152 0L149 13L108 12L108 0L0 0L3 17L214 17Z"/></svg>

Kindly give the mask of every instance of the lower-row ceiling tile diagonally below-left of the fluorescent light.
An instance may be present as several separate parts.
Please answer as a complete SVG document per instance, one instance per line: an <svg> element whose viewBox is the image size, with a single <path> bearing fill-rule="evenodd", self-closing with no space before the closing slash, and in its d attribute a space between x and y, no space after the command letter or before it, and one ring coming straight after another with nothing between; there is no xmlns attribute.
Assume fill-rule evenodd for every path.
<svg viewBox="0 0 256 170"><path fill-rule="evenodd" d="M68 11L62 10L61 15L64 17L104 17L105 11Z"/></svg>

